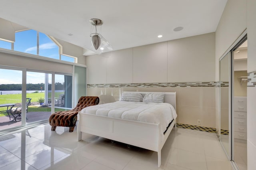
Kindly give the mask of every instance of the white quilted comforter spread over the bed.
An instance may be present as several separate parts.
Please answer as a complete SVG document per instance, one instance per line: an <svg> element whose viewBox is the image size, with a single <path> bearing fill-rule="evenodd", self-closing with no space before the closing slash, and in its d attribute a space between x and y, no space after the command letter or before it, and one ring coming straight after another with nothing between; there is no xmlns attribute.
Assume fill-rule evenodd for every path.
<svg viewBox="0 0 256 170"><path fill-rule="evenodd" d="M128 119L160 124L162 132L169 123L176 119L177 114L169 103L144 103L116 101L102 105L89 106L82 109L81 113Z"/></svg>

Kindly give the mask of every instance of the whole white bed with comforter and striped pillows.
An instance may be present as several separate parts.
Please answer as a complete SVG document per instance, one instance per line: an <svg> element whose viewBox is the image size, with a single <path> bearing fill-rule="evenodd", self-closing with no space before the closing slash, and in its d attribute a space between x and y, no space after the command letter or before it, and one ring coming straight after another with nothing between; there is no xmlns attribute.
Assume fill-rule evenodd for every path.
<svg viewBox="0 0 256 170"><path fill-rule="evenodd" d="M126 101L123 96L131 93L141 94L143 102L138 102L137 99ZM158 103L152 103L150 100L148 100L149 102L144 101L148 95L151 95L151 97L153 95L154 100L157 98L154 98L154 95L159 94L163 95L164 103L158 102L159 100L156 100ZM165 109L163 111L158 110L162 105ZM157 111L157 114L151 114L153 110ZM137 111L141 112L137 113ZM145 117L146 114L153 115L153 117L162 115L164 118L156 117L156 120L154 120ZM158 167L160 167L161 149L174 125L176 128L176 117L176 92L127 91L122 93L120 101L90 106L78 113L78 141L82 140L82 133L88 133L152 150L158 152Z"/></svg>

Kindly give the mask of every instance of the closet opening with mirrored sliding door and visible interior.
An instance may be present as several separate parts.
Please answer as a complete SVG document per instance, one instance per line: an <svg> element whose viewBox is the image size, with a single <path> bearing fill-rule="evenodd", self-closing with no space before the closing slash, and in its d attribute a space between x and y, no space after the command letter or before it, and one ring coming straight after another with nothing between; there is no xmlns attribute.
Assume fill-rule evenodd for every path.
<svg viewBox="0 0 256 170"><path fill-rule="evenodd" d="M220 142L236 169L247 170L247 37L220 58Z"/></svg>

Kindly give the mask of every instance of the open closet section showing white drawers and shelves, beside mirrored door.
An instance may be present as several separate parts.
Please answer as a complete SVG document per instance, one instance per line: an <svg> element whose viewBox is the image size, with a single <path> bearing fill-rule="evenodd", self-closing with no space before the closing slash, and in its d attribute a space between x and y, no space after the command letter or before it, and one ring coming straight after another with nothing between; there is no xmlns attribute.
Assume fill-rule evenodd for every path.
<svg viewBox="0 0 256 170"><path fill-rule="evenodd" d="M232 160L239 170L247 170L247 41L232 54Z"/></svg>

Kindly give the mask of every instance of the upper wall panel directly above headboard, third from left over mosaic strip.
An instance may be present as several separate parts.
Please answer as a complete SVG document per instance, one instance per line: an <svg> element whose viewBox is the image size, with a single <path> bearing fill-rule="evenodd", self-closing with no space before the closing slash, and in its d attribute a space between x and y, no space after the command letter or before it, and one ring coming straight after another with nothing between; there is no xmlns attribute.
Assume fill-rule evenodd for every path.
<svg viewBox="0 0 256 170"><path fill-rule="evenodd" d="M132 83L168 81L168 42L133 48Z"/></svg>

